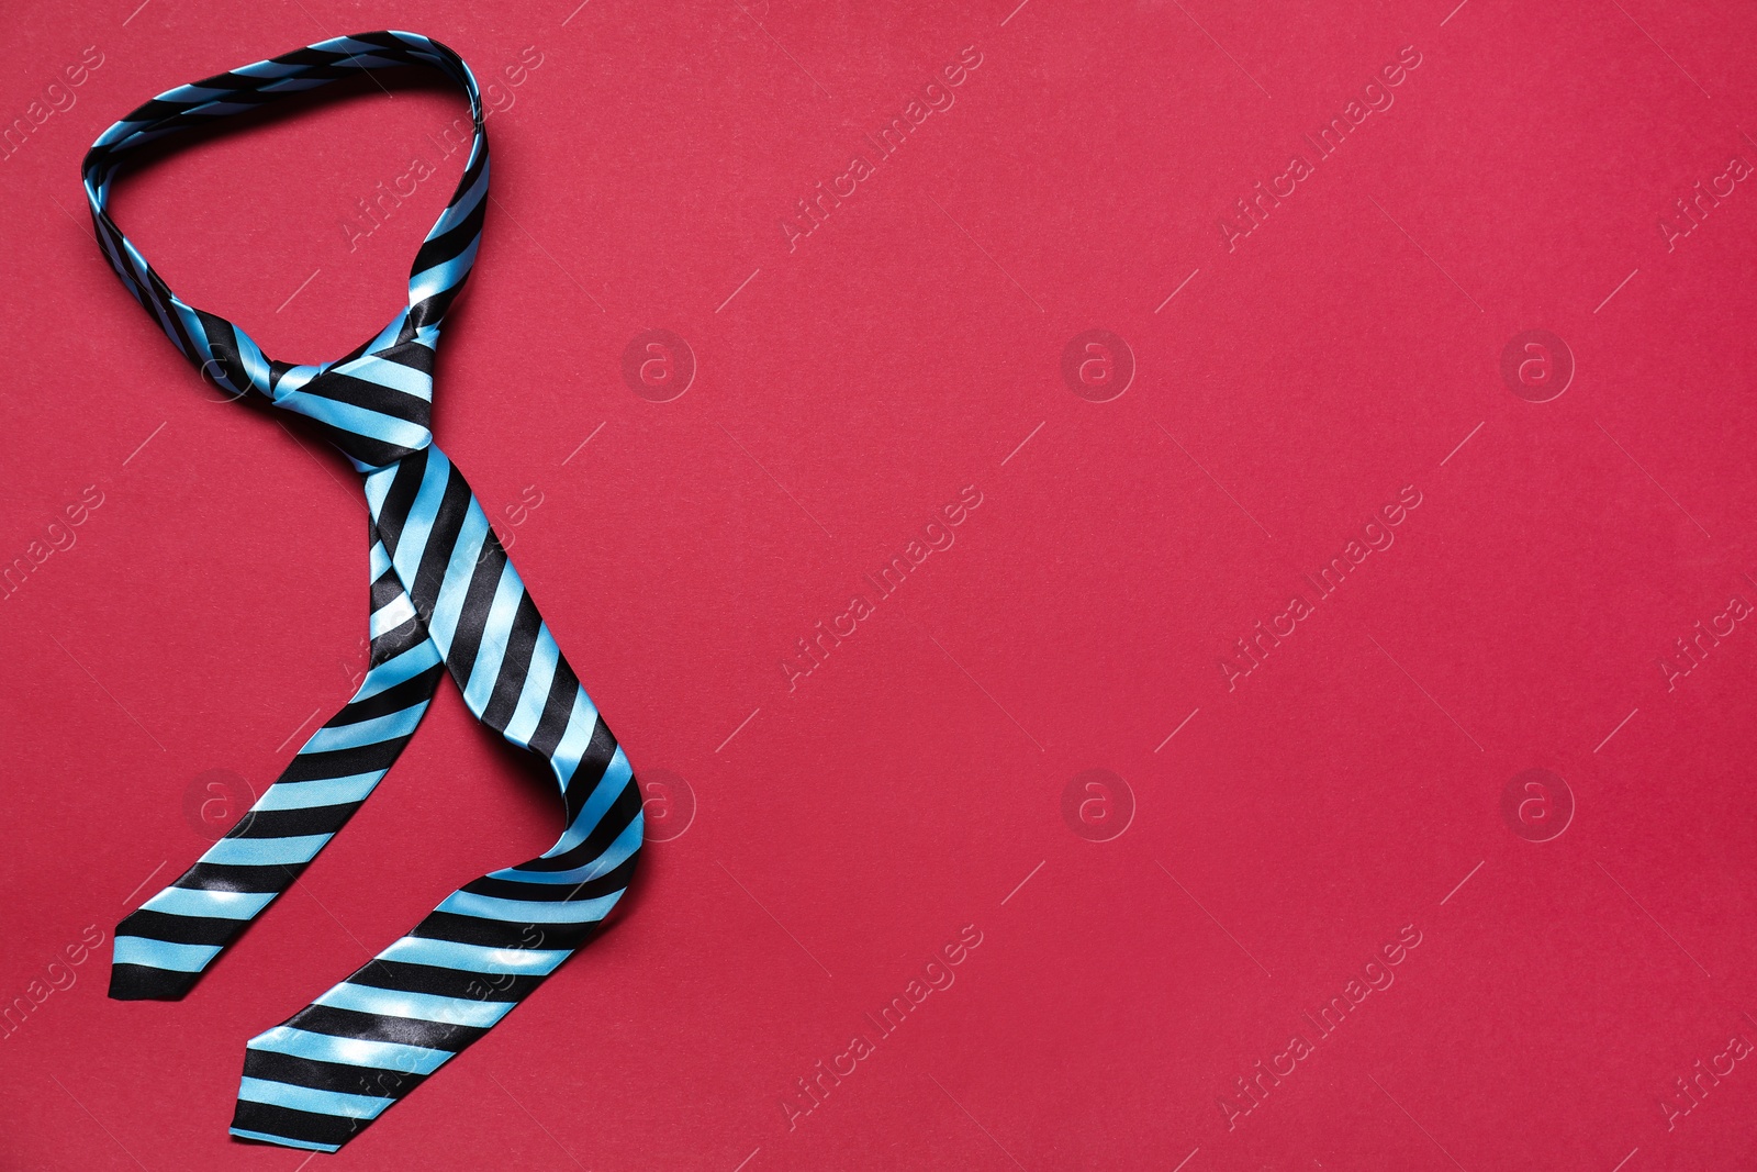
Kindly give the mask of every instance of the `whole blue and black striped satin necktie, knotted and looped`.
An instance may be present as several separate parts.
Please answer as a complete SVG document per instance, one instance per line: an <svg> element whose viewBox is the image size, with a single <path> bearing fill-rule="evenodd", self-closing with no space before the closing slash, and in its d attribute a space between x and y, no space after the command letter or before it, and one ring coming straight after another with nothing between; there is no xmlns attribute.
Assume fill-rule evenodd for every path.
<svg viewBox="0 0 1757 1172"><path fill-rule="evenodd" d="M409 306L323 365L264 357L177 299L111 221L128 153L360 70L432 67L469 95L464 177L409 271ZM434 346L476 260L488 139L469 67L406 32L337 37L179 86L104 132L84 160L97 239L123 285L218 387L304 415L365 478L371 666L237 826L116 930L111 996L174 1000L316 857L402 752L445 673L485 726L543 757L566 829L539 857L446 896L406 937L249 1040L232 1135L336 1151L480 1038L582 947L641 847L629 761L562 659L464 474L432 443Z"/></svg>

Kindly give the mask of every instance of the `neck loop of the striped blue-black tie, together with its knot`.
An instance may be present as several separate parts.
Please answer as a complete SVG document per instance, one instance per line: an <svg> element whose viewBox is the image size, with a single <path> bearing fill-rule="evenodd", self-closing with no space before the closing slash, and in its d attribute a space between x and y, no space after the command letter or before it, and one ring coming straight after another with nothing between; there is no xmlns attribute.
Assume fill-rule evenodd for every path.
<svg viewBox="0 0 1757 1172"><path fill-rule="evenodd" d="M469 98L476 137L464 174L409 265L409 304L371 341L320 365L264 355L237 323L170 292L109 216L111 183L128 155L216 118L244 114L372 69L422 65ZM104 132L83 163L98 246L123 286L184 358L221 390L255 392L311 418L360 471L397 462L432 443L432 357L439 327L476 264L488 197L488 135L476 77L446 46L408 32L371 32L283 53L160 93Z"/></svg>

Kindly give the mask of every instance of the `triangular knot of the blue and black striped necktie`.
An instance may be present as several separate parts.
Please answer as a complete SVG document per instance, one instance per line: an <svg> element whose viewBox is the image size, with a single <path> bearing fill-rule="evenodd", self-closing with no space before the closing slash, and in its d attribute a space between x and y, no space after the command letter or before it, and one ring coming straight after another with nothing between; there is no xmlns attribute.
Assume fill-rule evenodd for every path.
<svg viewBox="0 0 1757 1172"><path fill-rule="evenodd" d="M434 351L404 341L329 365L285 367L274 406L309 416L360 471L432 443Z"/></svg>

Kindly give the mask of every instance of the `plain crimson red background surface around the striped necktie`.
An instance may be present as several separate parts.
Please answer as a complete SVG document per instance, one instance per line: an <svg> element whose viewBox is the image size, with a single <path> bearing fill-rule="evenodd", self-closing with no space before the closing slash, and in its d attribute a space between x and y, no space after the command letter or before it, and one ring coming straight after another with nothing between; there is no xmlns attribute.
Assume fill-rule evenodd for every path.
<svg viewBox="0 0 1757 1172"><path fill-rule="evenodd" d="M513 557L698 812L336 1167L1750 1167L1748 1063L1673 1130L1659 1102L1757 1040L1757 631L1673 691L1657 661L1757 601L1757 190L1671 250L1657 221L1757 162L1757 18L1453 4L14 12L0 116L102 65L0 162L0 555L104 503L0 601L0 996L105 944L0 1042L0 1163L302 1167L227 1139L244 1040L557 833L446 685L184 1002L104 996L116 919L206 845L192 787L260 791L348 696L365 541L344 462L213 402L127 299L77 163L160 90L395 26L485 81L541 54L488 121L436 430L492 513L536 485ZM778 220L966 46L956 104L789 251ZM1395 105L1226 251L1218 216L1404 46ZM460 107L362 90L142 170L116 214L190 302L332 358L401 302ZM443 177L350 250L415 158ZM648 327L699 365L671 402L622 380ZM1139 367L1109 402L1061 376L1088 329ZM1502 381L1527 329L1578 364L1550 402ZM965 485L956 545L789 692L796 640ZM1406 485L1395 545L1228 692L1233 640ZM1135 803L1109 842L1063 817L1091 768ZM1550 842L1502 815L1527 768L1576 805ZM792 1081L966 924L956 984L789 1130ZM1395 984L1228 1128L1216 1098L1406 924Z"/></svg>

